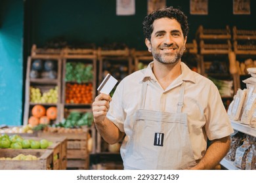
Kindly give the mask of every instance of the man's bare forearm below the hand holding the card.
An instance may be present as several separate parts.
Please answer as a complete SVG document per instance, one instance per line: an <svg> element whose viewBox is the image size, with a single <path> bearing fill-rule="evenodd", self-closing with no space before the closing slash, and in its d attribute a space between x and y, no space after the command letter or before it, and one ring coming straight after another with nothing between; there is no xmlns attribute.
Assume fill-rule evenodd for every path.
<svg viewBox="0 0 256 183"><path fill-rule="evenodd" d="M101 137L109 144L119 142L123 138L124 133L121 132L118 127L106 117L104 118L103 122L95 123L95 125Z"/></svg>

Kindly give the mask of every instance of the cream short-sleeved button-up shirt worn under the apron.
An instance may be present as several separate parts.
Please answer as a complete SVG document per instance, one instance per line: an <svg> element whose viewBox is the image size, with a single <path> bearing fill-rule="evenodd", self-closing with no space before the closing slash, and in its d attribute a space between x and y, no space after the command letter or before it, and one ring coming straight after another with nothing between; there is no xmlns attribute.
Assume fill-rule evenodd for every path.
<svg viewBox="0 0 256 183"><path fill-rule="evenodd" d="M182 74L163 90L152 72L153 62L127 76L116 88L110 102L107 118L126 134L121 146L125 156L126 141L133 132L135 112L140 107L142 82L148 80L145 108L161 112L176 112L182 82L185 84L182 112L188 114L188 131L194 158L201 159L209 140L220 139L233 133L217 87L204 76L191 71L181 62Z"/></svg>

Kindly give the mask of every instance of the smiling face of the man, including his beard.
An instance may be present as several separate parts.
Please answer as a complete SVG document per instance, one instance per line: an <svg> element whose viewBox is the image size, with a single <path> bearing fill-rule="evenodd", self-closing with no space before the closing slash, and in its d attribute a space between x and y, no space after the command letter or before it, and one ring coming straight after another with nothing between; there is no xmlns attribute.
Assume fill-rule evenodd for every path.
<svg viewBox="0 0 256 183"><path fill-rule="evenodd" d="M175 19L160 18L153 23L151 40L146 39L148 50L151 50L156 61L164 64L176 64L184 52L184 39L181 24Z"/></svg>

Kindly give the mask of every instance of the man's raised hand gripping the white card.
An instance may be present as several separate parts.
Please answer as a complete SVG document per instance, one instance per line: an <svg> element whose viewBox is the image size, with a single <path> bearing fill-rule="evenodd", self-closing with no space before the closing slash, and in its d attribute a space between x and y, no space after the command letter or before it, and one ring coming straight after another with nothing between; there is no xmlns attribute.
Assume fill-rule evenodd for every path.
<svg viewBox="0 0 256 183"><path fill-rule="evenodd" d="M110 95L106 95L104 93L100 93L98 96L95 97L95 101L93 102L93 117L95 123L101 123L107 112L110 108Z"/></svg>

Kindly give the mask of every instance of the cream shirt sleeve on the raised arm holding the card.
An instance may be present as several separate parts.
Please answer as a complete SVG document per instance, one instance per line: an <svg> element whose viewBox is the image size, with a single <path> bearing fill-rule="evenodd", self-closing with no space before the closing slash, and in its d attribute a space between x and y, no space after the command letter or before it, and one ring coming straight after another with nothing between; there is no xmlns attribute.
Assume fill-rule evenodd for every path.
<svg viewBox="0 0 256 183"><path fill-rule="evenodd" d="M120 131L124 132L123 123L125 121L125 111L123 110L123 82L121 81L112 96L110 108L106 117L111 120Z"/></svg>

